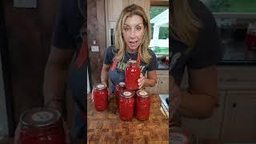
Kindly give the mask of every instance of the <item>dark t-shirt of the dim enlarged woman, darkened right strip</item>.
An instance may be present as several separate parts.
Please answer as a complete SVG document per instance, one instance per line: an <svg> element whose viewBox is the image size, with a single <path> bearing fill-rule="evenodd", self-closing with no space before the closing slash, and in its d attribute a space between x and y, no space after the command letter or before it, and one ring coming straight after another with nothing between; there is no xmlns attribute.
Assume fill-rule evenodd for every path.
<svg viewBox="0 0 256 144"><path fill-rule="evenodd" d="M178 85L182 81L186 66L191 69L213 66L218 64L222 55L220 35L213 14L198 0L188 2L195 16L202 21L203 27L199 31L198 42L191 50L187 50L184 43L171 38L170 75L174 77Z"/></svg>

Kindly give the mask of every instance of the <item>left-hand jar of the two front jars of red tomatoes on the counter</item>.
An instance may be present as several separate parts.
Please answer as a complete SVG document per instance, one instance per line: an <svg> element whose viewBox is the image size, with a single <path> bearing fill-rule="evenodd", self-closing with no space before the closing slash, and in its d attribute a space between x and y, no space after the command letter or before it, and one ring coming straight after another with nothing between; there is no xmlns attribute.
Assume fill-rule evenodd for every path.
<svg viewBox="0 0 256 144"><path fill-rule="evenodd" d="M123 90L119 102L119 116L124 121L130 121L134 116L134 92Z"/></svg>

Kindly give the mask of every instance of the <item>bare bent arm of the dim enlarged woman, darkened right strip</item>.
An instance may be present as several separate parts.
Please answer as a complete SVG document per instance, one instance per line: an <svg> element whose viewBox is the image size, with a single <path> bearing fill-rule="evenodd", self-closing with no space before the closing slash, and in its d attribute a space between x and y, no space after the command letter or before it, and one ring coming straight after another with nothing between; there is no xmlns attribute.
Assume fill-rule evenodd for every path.
<svg viewBox="0 0 256 144"><path fill-rule="evenodd" d="M218 104L218 73L215 66L189 69L189 90L174 86L173 95L180 96L178 113L193 118L208 118Z"/></svg>

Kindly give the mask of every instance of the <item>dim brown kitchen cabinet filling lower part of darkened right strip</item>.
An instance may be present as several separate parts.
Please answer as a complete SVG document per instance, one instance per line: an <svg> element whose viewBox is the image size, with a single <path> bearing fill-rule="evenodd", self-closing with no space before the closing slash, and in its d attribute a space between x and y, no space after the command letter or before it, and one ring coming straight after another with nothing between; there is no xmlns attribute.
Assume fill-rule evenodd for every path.
<svg viewBox="0 0 256 144"><path fill-rule="evenodd" d="M199 138L256 142L256 67L218 66L220 101L206 119L182 118L182 128ZM188 86L187 74L182 90Z"/></svg>

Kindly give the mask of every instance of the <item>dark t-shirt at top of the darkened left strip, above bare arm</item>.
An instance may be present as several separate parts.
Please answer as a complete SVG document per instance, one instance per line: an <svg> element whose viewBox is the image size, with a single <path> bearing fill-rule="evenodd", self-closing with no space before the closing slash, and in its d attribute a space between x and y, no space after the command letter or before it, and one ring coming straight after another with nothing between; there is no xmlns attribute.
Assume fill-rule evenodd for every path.
<svg viewBox="0 0 256 144"><path fill-rule="evenodd" d="M84 0L61 0L52 45L58 49L79 51L86 30L85 16Z"/></svg>

